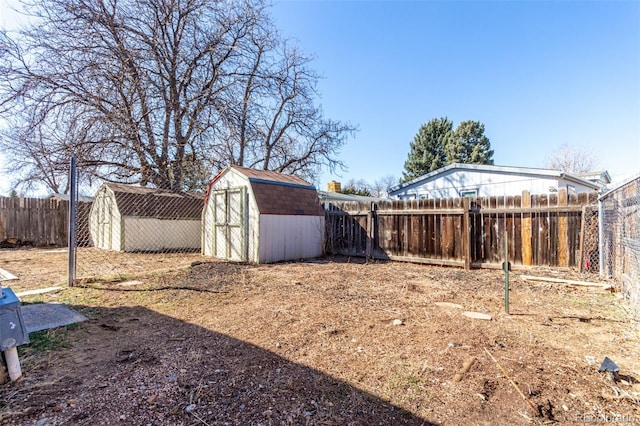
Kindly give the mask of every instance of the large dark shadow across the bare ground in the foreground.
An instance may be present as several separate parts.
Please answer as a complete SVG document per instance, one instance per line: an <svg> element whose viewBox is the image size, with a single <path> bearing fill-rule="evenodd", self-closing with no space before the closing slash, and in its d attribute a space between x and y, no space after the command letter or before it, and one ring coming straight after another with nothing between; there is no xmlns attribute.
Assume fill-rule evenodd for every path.
<svg viewBox="0 0 640 426"><path fill-rule="evenodd" d="M143 307L73 308L92 319L62 330L70 347L26 357L23 382L0 387L3 424L434 424L271 350Z"/></svg>

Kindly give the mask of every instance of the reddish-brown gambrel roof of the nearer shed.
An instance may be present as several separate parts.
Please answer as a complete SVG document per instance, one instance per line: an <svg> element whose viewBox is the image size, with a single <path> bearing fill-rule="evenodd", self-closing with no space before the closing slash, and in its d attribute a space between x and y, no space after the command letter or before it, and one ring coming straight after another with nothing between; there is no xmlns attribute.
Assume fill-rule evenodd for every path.
<svg viewBox="0 0 640 426"><path fill-rule="evenodd" d="M297 176L269 170L230 166L211 180L209 188L225 173L233 170L249 180L260 214L323 216L313 185Z"/></svg>

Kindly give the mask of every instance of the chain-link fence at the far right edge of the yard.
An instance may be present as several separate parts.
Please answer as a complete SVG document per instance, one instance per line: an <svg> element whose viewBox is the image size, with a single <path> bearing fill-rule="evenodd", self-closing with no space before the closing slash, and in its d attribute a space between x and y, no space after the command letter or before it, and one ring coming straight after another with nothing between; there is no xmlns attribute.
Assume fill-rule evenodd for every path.
<svg viewBox="0 0 640 426"><path fill-rule="evenodd" d="M600 197L602 214L600 272L620 283L640 316L640 176Z"/></svg>

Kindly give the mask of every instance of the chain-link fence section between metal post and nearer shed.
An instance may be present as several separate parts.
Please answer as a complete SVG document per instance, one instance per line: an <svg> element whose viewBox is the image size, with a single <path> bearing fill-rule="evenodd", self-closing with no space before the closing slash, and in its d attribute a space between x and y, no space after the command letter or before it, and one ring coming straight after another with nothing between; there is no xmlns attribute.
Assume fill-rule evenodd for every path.
<svg viewBox="0 0 640 426"><path fill-rule="evenodd" d="M161 277L202 260L203 193L85 183L78 185L75 198L71 285L166 279Z"/></svg>

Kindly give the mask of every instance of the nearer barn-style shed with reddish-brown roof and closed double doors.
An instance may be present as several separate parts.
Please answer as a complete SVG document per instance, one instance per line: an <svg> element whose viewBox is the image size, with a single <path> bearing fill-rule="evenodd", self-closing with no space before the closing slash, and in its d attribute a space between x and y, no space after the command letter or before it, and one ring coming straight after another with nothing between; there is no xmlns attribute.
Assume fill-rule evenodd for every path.
<svg viewBox="0 0 640 426"><path fill-rule="evenodd" d="M316 189L296 176L227 167L209 183L202 254L271 263L322 255L324 212Z"/></svg>

